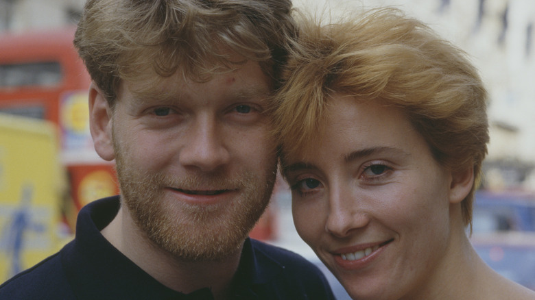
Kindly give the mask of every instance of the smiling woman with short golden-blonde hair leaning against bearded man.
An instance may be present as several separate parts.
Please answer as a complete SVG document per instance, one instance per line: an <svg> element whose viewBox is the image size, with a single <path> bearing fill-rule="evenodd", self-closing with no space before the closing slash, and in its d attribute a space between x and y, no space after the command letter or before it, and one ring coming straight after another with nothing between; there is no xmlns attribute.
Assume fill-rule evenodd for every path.
<svg viewBox="0 0 535 300"><path fill-rule="evenodd" d="M353 299L535 299L466 236L488 142L464 53L399 10L301 22L276 111L300 236Z"/></svg>

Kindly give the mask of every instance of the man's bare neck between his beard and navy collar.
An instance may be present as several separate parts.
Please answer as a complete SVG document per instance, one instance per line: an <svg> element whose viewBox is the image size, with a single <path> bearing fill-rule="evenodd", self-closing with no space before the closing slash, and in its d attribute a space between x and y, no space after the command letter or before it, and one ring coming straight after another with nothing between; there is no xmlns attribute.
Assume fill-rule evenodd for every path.
<svg viewBox="0 0 535 300"><path fill-rule="evenodd" d="M185 294L211 288L215 299L226 299L237 271L241 247L217 262L185 262L154 245L123 206L102 235L123 255L164 286Z"/></svg>

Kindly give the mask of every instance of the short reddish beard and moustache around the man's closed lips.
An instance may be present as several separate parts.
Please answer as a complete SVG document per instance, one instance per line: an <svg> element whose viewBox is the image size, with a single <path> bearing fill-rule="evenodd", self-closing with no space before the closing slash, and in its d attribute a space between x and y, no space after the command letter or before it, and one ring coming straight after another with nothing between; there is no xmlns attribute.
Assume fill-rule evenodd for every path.
<svg viewBox="0 0 535 300"><path fill-rule="evenodd" d="M265 174L242 173L237 179L224 174L176 178L141 172L120 154L116 161L122 201L136 225L154 244L182 261L222 260L239 250L267 207L275 182L275 168ZM210 186L239 194L222 205L191 205L166 201L166 186L185 190Z"/></svg>

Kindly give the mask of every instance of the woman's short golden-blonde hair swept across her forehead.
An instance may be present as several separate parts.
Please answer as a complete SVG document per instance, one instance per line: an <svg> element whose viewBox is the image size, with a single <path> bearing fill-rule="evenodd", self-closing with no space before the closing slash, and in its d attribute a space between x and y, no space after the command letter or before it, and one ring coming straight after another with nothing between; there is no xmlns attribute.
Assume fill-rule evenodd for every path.
<svg viewBox="0 0 535 300"><path fill-rule="evenodd" d="M400 10L371 10L321 25L301 16L275 108L285 153L303 153L325 121L335 92L402 110L449 170L473 166L477 182L487 153L486 90L463 51ZM462 202L471 225L475 184Z"/></svg>

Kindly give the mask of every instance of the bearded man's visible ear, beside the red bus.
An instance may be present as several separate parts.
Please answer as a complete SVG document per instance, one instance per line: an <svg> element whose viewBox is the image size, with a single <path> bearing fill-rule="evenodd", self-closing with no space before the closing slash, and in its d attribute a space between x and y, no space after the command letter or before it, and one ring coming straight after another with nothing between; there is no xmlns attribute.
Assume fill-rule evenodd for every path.
<svg viewBox="0 0 535 300"><path fill-rule="evenodd" d="M113 160L112 110L94 82L89 87L89 129L97 154L104 160Z"/></svg>

